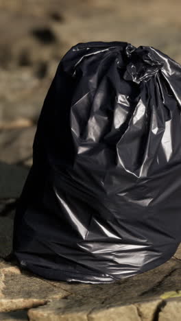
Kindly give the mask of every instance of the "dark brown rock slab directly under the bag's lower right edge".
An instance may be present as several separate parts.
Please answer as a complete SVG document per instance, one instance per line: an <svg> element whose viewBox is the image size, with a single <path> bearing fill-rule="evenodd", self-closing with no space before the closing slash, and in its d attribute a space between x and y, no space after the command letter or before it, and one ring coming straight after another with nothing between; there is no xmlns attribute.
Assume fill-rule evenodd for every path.
<svg viewBox="0 0 181 321"><path fill-rule="evenodd" d="M95 298L106 305L124 305L158 298L162 293L181 289L180 262L171 259L154 270L110 284L73 284L47 281L75 296Z"/></svg>

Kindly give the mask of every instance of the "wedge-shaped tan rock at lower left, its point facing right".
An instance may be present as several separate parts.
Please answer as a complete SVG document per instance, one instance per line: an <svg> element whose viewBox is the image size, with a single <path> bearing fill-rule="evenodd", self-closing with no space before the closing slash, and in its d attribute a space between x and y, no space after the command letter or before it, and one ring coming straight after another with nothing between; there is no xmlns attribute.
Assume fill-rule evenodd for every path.
<svg viewBox="0 0 181 321"><path fill-rule="evenodd" d="M33 274L0 261L0 312L29 309L67 296L67 292Z"/></svg>

